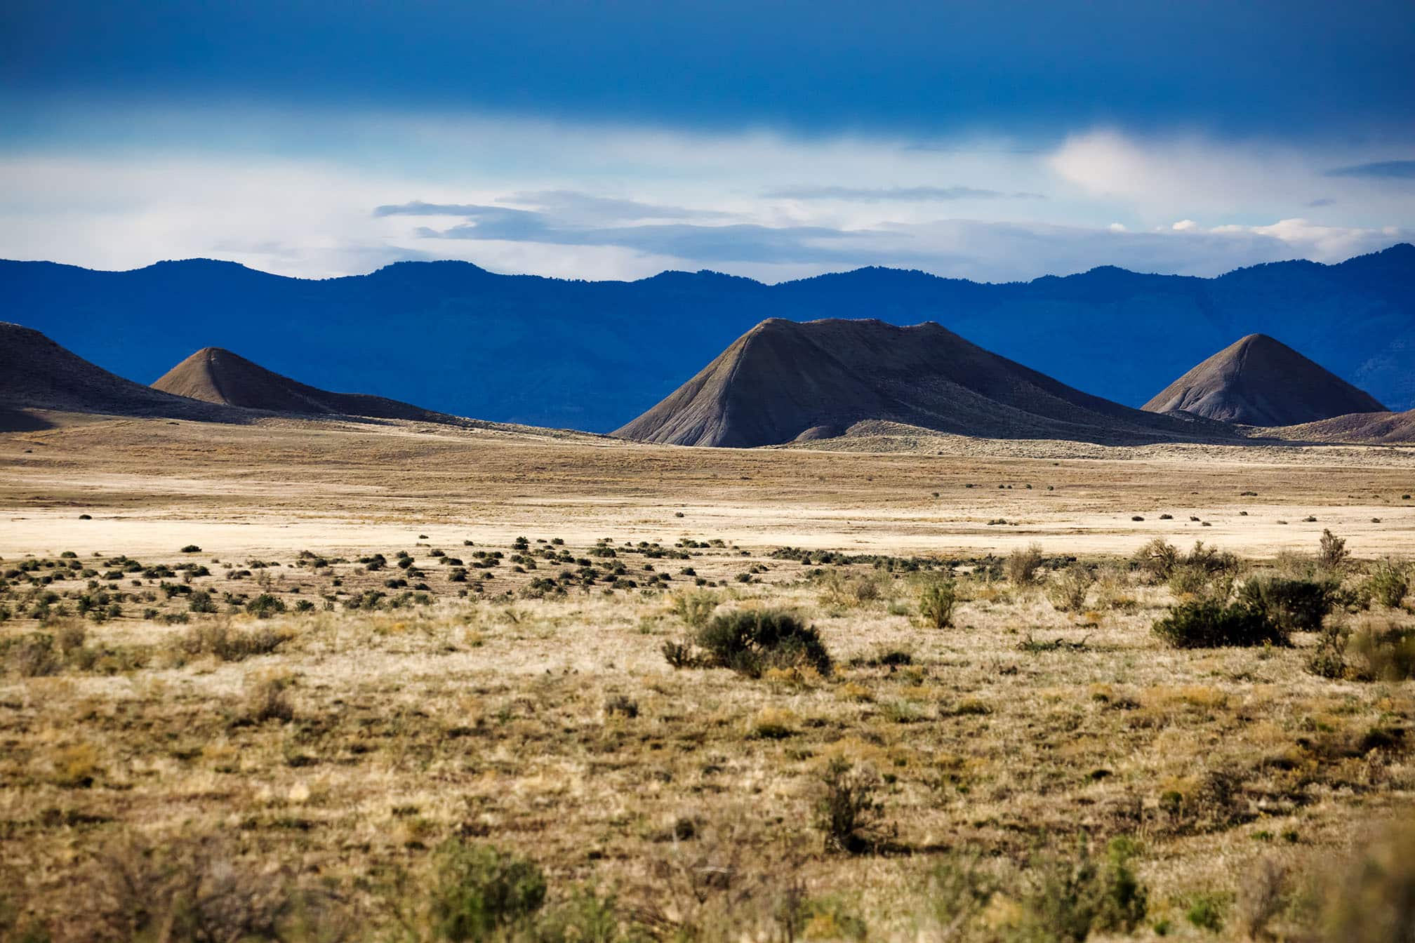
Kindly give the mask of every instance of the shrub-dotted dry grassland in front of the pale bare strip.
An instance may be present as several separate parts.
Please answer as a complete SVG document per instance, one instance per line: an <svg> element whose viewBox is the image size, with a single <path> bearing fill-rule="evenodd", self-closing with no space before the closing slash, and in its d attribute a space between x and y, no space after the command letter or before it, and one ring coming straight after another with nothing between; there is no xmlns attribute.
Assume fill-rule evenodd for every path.
<svg viewBox="0 0 1415 943"><path fill-rule="evenodd" d="M1381 564L1078 541L1019 584L986 553L526 532L0 561L0 939L1387 939L1323 892L1415 797ZM1186 605L1218 618L1149 631ZM1399 899L1382 861L1333 881L1363 915Z"/></svg>

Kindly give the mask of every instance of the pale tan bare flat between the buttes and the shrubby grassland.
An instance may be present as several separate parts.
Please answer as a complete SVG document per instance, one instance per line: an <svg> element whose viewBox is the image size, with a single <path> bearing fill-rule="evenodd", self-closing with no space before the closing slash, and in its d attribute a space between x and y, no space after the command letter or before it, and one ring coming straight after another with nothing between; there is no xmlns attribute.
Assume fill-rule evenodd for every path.
<svg viewBox="0 0 1415 943"><path fill-rule="evenodd" d="M1163 536L1271 556L1310 547L1323 529L1363 557L1415 546L1415 500L1402 498L1415 491L1415 450L957 445L743 451L413 424L82 421L0 437L0 556L192 541L333 553L409 530L444 543L555 530L580 543L706 534L894 554L1030 541L1124 554Z"/></svg>

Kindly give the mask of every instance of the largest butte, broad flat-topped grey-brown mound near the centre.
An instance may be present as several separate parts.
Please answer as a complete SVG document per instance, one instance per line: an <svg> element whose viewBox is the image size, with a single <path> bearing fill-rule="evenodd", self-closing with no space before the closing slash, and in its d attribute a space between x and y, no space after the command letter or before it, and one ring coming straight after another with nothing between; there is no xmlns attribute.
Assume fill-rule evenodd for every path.
<svg viewBox="0 0 1415 943"><path fill-rule="evenodd" d="M1153 443L1214 434L1206 423L1081 393L931 321L780 318L737 338L614 434L750 448L831 438L867 420L986 438Z"/></svg>

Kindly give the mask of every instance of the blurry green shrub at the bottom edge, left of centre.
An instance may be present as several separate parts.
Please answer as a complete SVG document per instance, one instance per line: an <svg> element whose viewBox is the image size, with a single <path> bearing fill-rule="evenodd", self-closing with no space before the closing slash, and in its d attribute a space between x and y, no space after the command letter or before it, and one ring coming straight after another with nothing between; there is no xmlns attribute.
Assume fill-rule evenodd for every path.
<svg viewBox="0 0 1415 943"><path fill-rule="evenodd" d="M525 923L545 903L533 861L450 838L437 850L432 929L441 940L487 940Z"/></svg>

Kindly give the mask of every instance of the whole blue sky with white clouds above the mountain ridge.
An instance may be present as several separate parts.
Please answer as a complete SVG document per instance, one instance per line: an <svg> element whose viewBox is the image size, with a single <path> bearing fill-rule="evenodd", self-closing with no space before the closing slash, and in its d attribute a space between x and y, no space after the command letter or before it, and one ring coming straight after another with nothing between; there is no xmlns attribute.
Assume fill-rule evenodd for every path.
<svg viewBox="0 0 1415 943"><path fill-rule="evenodd" d="M1415 229L1415 6L30 3L0 256L982 280Z"/></svg>

